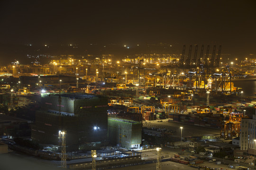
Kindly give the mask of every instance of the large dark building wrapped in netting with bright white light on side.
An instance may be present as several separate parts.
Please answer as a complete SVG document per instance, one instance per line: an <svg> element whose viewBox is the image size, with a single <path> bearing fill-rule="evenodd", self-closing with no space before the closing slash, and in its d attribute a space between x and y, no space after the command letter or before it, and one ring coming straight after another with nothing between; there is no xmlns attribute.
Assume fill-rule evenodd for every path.
<svg viewBox="0 0 256 170"><path fill-rule="evenodd" d="M32 139L58 145L59 130L66 131L68 151L100 146L107 140L106 97L82 93L47 94L36 113Z"/></svg>

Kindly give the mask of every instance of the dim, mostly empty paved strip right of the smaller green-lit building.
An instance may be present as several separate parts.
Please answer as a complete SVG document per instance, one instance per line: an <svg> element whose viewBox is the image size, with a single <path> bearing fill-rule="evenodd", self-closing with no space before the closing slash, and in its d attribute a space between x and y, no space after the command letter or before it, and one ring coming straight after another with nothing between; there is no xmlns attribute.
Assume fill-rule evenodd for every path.
<svg viewBox="0 0 256 170"><path fill-rule="evenodd" d="M172 129L175 136L181 135L180 127L183 127L182 134L183 136L202 136L202 135L219 135L220 129L210 128L210 127L200 127L189 125L180 122L173 122L164 119L163 122L157 122L157 120L151 121L143 121L143 127L155 127L155 128L165 128L165 129Z"/></svg>

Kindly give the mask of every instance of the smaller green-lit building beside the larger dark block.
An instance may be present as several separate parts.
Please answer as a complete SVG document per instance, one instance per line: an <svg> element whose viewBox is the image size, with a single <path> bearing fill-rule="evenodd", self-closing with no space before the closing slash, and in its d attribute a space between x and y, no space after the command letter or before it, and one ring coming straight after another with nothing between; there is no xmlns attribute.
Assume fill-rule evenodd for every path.
<svg viewBox="0 0 256 170"><path fill-rule="evenodd" d="M141 122L109 117L108 130L111 144L117 144L124 148L140 149Z"/></svg>

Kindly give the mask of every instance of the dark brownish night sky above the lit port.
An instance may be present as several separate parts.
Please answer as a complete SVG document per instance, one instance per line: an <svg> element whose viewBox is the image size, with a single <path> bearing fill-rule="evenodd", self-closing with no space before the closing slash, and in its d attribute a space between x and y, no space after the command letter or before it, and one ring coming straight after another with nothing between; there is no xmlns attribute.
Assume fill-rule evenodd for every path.
<svg viewBox="0 0 256 170"><path fill-rule="evenodd" d="M255 0L2 0L1 44L221 44L256 53Z"/></svg>

